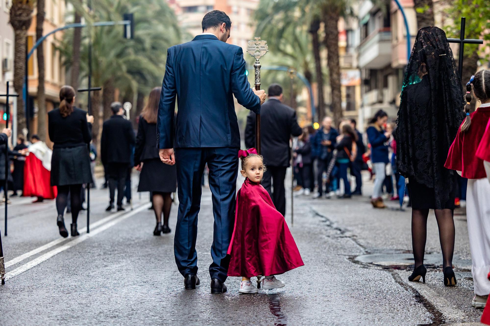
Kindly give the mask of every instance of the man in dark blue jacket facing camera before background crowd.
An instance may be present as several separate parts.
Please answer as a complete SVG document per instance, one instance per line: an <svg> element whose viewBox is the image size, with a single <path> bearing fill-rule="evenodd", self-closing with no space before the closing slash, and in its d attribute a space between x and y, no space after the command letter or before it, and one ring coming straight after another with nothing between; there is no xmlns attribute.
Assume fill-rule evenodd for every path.
<svg viewBox="0 0 490 326"><path fill-rule="evenodd" d="M335 149L335 142L339 133L336 129L332 128L332 118L325 116L321 122L322 126L315 135L312 146L315 148L318 155L317 161L317 182L318 182L318 192L313 198L320 198L323 194L323 172L326 172L328 165L333 157L333 150ZM335 175L332 171L332 176ZM332 179L332 178L331 178ZM329 184L325 186L325 196L329 198Z"/></svg>

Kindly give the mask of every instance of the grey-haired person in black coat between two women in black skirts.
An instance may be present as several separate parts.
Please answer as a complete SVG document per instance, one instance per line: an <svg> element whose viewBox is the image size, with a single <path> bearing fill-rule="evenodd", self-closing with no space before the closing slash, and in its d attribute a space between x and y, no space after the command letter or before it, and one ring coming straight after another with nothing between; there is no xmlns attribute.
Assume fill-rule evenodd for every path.
<svg viewBox="0 0 490 326"><path fill-rule="evenodd" d="M107 166L109 174L109 206L106 211L114 209L114 196L118 189L118 211L123 209L124 186L127 169L131 164L131 147L135 144L131 122L124 118L123 105L120 102L111 104L113 115L104 121L100 137L100 157Z"/></svg>

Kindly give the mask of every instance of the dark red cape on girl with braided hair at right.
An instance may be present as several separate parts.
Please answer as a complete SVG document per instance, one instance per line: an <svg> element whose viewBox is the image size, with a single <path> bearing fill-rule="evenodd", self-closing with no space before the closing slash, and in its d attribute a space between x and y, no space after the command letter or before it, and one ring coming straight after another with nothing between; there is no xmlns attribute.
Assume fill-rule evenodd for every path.
<svg viewBox="0 0 490 326"><path fill-rule="evenodd" d="M470 117L469 129L463 133L460 126L456 139L449 148L444 166L461 171L463 178L482 179L486 178L487 174L483 160L477 157L476 152L490 119L490 107L480 107L470 114Z"/></svg>

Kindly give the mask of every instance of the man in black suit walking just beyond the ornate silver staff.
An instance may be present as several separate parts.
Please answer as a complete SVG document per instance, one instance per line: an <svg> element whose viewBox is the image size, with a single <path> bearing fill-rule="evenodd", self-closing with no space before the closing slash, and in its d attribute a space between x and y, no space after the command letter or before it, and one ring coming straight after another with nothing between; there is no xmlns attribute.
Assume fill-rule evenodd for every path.
<svg viewBox="0 0 490 326"><path fill-rule="evenodd" d="M291 160L289 140L291 136L301 135L302 130L296 121L296 112L282 104L281 86L270 85L268 92L269 100L260 109L261 154L267 167L262 185L269 192L276 209L284 216L286 214L284 179ZM246 119L245 145L247 148L255 146L255 115L252 113Z"/></svg>

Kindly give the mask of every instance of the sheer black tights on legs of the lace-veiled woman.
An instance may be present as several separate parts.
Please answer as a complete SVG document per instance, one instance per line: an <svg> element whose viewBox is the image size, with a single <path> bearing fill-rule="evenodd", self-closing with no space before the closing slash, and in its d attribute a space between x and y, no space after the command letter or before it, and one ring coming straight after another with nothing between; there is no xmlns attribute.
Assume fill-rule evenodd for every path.
<svg viewBox="0 0 490 326"><path fill-rule="evenodd" d="M439 227L439 241L442 250L442 266L452 267L454 253L454 220L453 210L434 210ZM414 250L415 268L424 263L425 241L427 239L427 217L429 210L412 209L412 248Z"/></svg>

